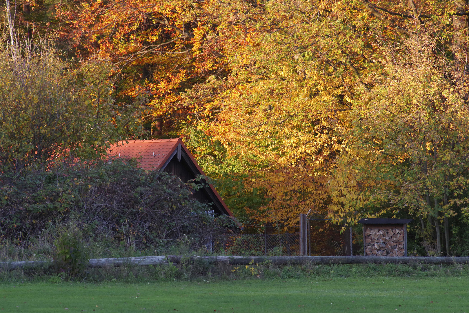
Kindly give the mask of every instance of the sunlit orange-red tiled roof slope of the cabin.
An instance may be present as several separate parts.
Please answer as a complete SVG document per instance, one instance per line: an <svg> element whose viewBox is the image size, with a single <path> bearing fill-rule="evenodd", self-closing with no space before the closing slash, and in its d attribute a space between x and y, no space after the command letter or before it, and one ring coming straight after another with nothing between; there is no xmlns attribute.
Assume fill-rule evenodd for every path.
<svg viewBox="0 0 469 313"><path fill-rule="evenodd" d="M153 140L129 140L129 143L121 141L111 145L108 150L110 156L137 158L144 169L161 168L171 156L181 138L153 139Z"/></svg>

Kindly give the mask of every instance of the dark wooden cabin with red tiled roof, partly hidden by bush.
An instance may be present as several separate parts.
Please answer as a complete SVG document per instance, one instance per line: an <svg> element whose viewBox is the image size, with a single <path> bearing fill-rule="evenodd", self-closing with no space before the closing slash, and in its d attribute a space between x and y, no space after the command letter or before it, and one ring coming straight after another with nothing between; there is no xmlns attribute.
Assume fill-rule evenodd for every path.
<svg viewBox="0 0 469 313"><path fill-rule="evenodd" d="M181 138L122 141L112 145L108 153L113 157L136 158L142 168L164 170L178 176L184 183L198 175L205 176ZM233 216L212 184L201 183L204 187L196 191L193 197L209 204L214 214Z"/></svg>

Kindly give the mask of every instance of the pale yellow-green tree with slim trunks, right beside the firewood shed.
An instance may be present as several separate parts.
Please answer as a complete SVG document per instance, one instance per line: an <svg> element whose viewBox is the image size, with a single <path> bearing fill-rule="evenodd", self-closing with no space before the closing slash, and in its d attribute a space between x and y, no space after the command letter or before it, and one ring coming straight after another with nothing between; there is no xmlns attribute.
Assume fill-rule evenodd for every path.
<svg viewBox="0 0 469 313"><path fill-rule="evenodd" d="M374 88L350 112L349 145L333 189L355 209L380 206L415 216L427 252L433 227L441 252L442 224L449 255L448 218L461 208L464 214L468 201L465 84L445 75L449 64L435 56L430 36L408 39L401 49L389 51Z"/></svg>

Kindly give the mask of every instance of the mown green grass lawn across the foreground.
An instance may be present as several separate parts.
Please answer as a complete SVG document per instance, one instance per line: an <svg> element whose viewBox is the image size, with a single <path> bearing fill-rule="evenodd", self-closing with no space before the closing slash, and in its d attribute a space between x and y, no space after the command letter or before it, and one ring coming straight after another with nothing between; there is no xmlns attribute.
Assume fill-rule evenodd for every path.
<svg viewBox="0 0 469 313"><path fill-rule="evenodd" d="M0 284L0 312L469 312L469 278Z"/></svg>

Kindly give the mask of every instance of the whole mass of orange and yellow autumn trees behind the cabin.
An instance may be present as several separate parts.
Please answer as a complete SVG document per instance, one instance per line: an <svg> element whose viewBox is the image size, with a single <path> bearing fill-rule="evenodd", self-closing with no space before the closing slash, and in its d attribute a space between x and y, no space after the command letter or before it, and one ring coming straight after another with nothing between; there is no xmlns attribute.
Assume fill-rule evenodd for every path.
<svg viewBox="0 0 469 313"><path fill-rule="evenodd" d="M465 0L38 0L11 2L15 28L4 29L48 38L73 73L102 66L117 112L106 114L132 116L109 117L113 134L186 137L238 216L283 229L307 212L342 225L412 216L427 252L441 252L442 225L449 253L448 219L468 213L467 10ZM99 145L117 138L100 134Z"/></svg>

